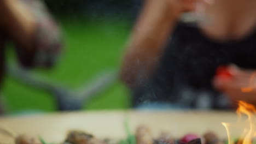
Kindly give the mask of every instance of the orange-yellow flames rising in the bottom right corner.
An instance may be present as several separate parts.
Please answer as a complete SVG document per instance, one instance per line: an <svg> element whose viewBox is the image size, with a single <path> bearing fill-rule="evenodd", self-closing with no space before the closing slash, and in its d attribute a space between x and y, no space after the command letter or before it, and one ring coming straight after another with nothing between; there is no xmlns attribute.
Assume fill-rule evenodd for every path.
<svg viewBox="0 0 256 144"><path fill-rule="evenodd" d="M238 141L239 143L241 142L242 144L251 144L252 143L252 139L254 136L256 136L256 117L255 117L255 113L256 113L256 109L253 105L251 104L247 104L244 101L238 101L238 108L236 110L236 113L239 117L238 122L241 121L241 117L242 115L246 115L247 119L246 122L248 124L248 127L243 129L243 134L240 137L240 140ZM237 123L238 123L237 122ZM245 122L242 122L245 123ZM228 141L229 144L234 144L234 141L231 140L231 136L230 136L230 127L231 126L237 126L237 124L230 124L230 123L222 123L226 129L226 132L228 134Z"/></svg>

